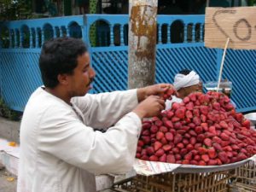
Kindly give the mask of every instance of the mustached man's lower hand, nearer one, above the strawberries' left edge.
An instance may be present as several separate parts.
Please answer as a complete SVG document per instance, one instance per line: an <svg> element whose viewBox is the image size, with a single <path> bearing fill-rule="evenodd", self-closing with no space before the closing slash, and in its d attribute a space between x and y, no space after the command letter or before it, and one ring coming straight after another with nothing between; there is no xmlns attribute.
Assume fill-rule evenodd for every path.
<svg viewBox="0 0 256 192"><path fill-rule="evenodd" d="M137 113L141 119L150 118L158 116L165 107L165 101L161 99L160 96L148 96L148 98L139 103L137 108L132 112Z"/></svg>

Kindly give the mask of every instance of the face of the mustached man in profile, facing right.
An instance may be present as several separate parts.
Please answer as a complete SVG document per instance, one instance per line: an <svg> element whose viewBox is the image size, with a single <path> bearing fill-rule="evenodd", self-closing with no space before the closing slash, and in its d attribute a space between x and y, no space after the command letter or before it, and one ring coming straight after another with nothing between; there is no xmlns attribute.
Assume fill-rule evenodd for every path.
<svg viewBox="0 0 256 192"><path fill-rule="evenodd" d="M69 95L84 96L91 88L95 78L95 71L90 67L90 56L88 52L78 57L78 66L74 68L73 74L69 76Z"/></svg>

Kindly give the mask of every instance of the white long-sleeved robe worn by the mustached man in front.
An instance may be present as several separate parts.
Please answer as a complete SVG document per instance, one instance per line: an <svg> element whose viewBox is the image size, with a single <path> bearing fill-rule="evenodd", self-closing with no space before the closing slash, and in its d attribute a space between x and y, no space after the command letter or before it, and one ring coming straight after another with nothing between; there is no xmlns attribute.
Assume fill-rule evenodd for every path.
<svg viewBox="0 0 256 192"><path fill-rule="evenodd" d="M72 102L42 88L30 97L20 125L18 192L96 191L95 174L131 169L142 126L131 112L137 90ZM111 125L105 133L93 130Z"/></svg>

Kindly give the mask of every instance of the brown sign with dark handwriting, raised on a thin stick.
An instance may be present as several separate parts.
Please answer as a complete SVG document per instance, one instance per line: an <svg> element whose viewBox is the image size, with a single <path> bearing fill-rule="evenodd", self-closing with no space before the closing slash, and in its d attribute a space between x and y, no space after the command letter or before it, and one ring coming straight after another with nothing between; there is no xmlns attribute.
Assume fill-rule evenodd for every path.
<svg viewBox="0 0 256 192"><path fill-rule="evenodd" d="M205 21L205 46L256 49L256 7L207 8Z"/></svg>

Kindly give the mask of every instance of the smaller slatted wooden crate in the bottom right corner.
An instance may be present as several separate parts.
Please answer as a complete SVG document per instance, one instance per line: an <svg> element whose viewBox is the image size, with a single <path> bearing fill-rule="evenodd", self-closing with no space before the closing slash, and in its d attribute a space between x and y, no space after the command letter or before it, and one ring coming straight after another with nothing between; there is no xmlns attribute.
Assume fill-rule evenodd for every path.
<svg viewBox="0 0 256 192"><path fill-rule="evenodd" d="M232 172L231 191L255 192L256 191L256 163L249 161L244 166L237 167Z"/></svg>

